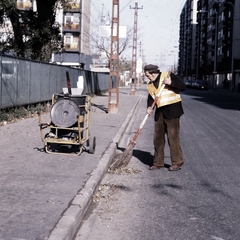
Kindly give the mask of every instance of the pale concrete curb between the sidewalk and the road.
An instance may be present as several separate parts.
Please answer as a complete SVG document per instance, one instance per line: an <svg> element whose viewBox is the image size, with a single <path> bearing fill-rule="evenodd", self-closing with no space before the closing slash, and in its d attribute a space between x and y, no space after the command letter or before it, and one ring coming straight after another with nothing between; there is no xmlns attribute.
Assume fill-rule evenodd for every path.
<svg viewBox="0 0 240 240"><path fill-rule="evenodd" d="M135 113L141 99L142 95L139 96L133 109L119 128L107 150L104 152L97 168L90 174L86 184L69 203L68 208L63 212L59 221L50 232L47 238L48 240L72 240L76 234L77 229L83 220L84 214L92 202L92 197L115 156L117 149L116 143L118 143L122 138L130 118Z"/></svg>

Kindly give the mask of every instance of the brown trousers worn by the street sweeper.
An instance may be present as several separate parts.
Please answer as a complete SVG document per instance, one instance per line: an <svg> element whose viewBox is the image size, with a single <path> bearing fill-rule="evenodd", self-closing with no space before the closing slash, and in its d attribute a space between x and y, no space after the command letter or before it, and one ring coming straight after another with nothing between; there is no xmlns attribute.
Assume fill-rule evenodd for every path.
<svg viewBox="0 0 240 240"><path fill-rule="evenodd" d="M154 160L155 166L164 166L165 134L170 147L172 165L183 162L182 149L179 139L180 118L164 119L162 112L155 122L154 131Z"/></svg>

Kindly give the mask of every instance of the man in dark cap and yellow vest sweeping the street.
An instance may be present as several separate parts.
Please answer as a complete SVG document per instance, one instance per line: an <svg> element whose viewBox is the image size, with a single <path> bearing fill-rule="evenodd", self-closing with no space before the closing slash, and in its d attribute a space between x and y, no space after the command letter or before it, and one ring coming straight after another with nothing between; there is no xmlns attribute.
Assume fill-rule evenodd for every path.
<svg viewBox="0 0 240 240"><path fill-rule="evenodd" d="M183 81L168 72L160 72L156 65L146 65L144 67L146 77L150 80L147 85L148 100L147 113L151 114L151 108L155 95L159 92L162 84L166 86L159 97L155 110L155 128L154 128L154 159L150 170L164 167L164 146L165 134L167 135L170 147L172 165L169 171L177 171L183 165L182 149L179 139L180 116L183 115L183 108L179 91L185 90L186 86Z"/></svg>

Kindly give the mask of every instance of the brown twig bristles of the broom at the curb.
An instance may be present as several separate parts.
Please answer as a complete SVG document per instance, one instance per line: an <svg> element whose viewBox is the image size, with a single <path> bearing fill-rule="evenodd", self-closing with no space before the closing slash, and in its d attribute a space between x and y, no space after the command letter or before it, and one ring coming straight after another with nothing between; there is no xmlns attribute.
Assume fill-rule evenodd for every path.
<svg viewBox="0 0 240 240"><path fill-rule="evenodd" d="M135 145L136 142L131 141L124 152L116 158L114 163L110 166L110 169L115 170L120 167L126 167L132 158L133 148Z"/></svg>

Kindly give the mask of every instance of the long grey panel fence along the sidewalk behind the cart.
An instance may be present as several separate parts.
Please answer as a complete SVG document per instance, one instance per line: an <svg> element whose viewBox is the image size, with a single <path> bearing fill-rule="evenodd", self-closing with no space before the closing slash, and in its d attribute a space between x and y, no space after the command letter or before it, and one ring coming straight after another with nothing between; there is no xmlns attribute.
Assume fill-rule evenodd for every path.
<svg viewBox="0 0 240 240"><path fill-rule="evenodd" d="M82 94L93 94L108 89L108 73L24 60L0 55L0 109L50 101L53 93L67 87L66 71L71 87L77 87L83 76Z"/></svg>

